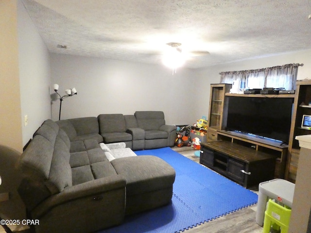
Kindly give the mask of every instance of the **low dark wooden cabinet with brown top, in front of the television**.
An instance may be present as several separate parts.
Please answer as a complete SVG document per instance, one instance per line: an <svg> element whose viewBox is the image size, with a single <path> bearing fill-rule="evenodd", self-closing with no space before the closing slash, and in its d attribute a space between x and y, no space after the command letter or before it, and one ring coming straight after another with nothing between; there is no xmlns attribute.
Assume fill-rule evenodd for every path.
<svg viewBox="0 0 311 233"><path fill-rule="evenodd" d="M276 158L226 140L201 143L200 164L246 188L274 179Z"/></svg>

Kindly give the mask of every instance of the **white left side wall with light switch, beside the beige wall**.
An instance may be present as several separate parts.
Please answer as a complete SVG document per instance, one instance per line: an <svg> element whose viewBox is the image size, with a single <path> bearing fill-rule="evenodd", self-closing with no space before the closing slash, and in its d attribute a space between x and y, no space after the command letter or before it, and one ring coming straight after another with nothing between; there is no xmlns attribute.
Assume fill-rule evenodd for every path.
<svg viewBox="0 0 311 233"><path fill-rule="evenodd" d="M50 54L22 1L17 1L18 64L23 146L51 118ZM24 116L28 125L24 125Z"/></svg>

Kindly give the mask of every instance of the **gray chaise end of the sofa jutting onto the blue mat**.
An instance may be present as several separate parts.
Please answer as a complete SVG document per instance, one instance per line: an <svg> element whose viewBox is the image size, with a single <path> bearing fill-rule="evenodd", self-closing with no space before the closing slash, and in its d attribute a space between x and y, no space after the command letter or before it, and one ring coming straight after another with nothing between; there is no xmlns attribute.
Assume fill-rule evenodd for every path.
<svg viewBox="0 0 311 233"><path fill-rule="evenodd" d="M126 179L125 215L154 209L171 201L175 170L164 160L143 155L115 159L111 164Z"/></svg>

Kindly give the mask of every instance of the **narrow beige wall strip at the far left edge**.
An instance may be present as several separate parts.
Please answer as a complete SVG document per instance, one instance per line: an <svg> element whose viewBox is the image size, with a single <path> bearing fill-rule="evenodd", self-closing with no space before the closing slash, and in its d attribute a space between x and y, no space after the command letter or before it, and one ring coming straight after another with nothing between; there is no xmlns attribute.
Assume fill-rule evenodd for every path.
<svg viewBox="0 0 311 233"><path fill-rule="evenodd" d="M22 151L17 1L0 1L0 145Z"/></svg>

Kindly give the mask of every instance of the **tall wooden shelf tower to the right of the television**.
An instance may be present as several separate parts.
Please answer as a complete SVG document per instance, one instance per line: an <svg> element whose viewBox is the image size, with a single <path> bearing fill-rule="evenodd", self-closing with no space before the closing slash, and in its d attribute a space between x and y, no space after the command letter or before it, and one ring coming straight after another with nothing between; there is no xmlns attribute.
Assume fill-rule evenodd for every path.
<svg viewBox="0 0 311 233"><path fill-rule="evenodd" d="M295 182L300 148L297 135L311 134L311 130L301 128L302 116L311 115L311 80L297 81L295 90L294 107L292 114L290 141L288 145L288 156L285 169L285 179Z"/></svg>

